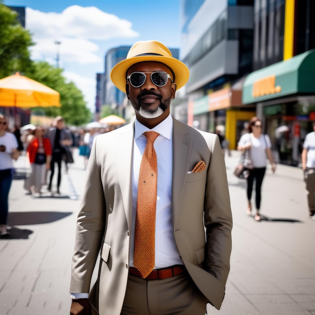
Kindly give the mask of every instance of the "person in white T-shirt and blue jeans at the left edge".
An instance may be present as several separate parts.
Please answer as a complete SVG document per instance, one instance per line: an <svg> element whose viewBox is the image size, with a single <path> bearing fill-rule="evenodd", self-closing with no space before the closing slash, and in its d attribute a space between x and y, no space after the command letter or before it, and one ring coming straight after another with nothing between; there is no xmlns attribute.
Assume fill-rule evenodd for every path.
<svg viewBox="0 0 315 315"><path fill-rule="evenodd" d="M8 199L13 178L13 161L19 156L18 141L13 133L7 130L6 117L0 114L0 236L9 234L7 231Z"/></svg>

